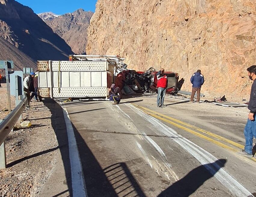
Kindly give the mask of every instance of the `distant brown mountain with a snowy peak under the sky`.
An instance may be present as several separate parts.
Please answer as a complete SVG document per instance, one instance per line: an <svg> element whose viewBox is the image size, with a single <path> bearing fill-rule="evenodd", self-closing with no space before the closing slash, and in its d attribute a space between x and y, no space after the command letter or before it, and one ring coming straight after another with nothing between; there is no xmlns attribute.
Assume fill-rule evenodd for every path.
<svg viewBox="0 0 256 197"><path fill-rule="evenodd" d="M87 29L92 15L91 11L79 9L73 13L45 19L45 23L66 41L74 53L84 54L87 45Z"/></svg>

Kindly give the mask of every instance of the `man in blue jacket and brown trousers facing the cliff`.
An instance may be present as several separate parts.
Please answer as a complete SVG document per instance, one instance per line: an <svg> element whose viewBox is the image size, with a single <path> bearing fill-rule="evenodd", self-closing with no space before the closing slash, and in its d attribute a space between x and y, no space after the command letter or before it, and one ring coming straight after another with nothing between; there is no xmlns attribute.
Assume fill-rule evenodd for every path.
<svg viewBox="0 0 256 197"><path fill-rule="evenodd" d="M197 94L197 103L200 101L201 87L205 82L204 76L201 74L201 70L197 70L190 78L192 85L192 94L190 97L190 103L193 103L194 96Z"/></svg>

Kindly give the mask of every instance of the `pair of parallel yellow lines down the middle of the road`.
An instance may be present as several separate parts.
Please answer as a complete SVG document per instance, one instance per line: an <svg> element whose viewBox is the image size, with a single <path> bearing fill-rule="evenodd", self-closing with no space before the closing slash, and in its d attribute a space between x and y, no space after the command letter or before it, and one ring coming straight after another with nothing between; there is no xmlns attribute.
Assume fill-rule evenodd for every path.
<svg viewBox="0 0 256 197"><path fill-rule="evenodd" d="M195 127L195 126L193 126L193 125L187 124L187 123L185 123L185 122L182 122L182 121L180 121L180 120L178 120L178 119L175 119L175 118L172 118L172 117L170 117L170 116L161 114L161 113L159 113L159 112L155 112L155 111L153 111L153 110L151 110L151 109L148 109L148 108L146 108L146 107L139 106L139 105L136 105L136 104L133 104L133 105L136 106L137 108L141 109L141 110L142 110L143 112L145 112L146 114L148 114L148 115L150 115L150 116L152 116L152 117L154 117L154 118L156 118L156 119L159 119L159 120L162 120L162 121L164 121L164 122L167 122L167 123L169 123L169 124L171 124L171 125L174 125L174 126L180 128L180 129L183 129L183 130L185 130L185 131L187 131L187 132L189 132L189 133L191 133L191 134L194 134L194 135L196 135L196 136L198 136L198 137L201 137L201 138L203 138L203 139L205 139L205 140L208 140L208 141L210 141L210 142L212 142L212 143L214 143L214 144L217 144L218 146L221 146L221 147L223 147L223 148L225 148L225 149L227 149L227 150L230 150L230 151L232 151L232 152L238 152L240 149L243 149L243 148L244 148L243 145L241 145L241 144L239 144L239 143L236 143L236 142L234 142L234 141L232 141L232 140L229 140L229 139L227 139L227 138L225 138L225 137L221 137L221 136L219 136L219 135L217 135L217 134L213 134L213 133L211 133L211 132L209 132L209 131L205 131L205 130L203 130L203 129L201 129L201 128L198 128L198 127ZM193 129L193 130L192 130L192 129ZM196 131L194 131L194 130L196 130ZM203 134L201 134L201 133L203 133ZM206 135L208 135L208 136L210 136L210 137L208 137L208 136L206 136ZM230 144L230 145L233 145L233 146L235 146L235 148L234 148L234 147L231 147L231 146L229 146L229 145L226 145L226 144L224 144L224 143L222 143L222 142L220 142L220 141L214 140L214 139L212 139L211 137L214 137L214 138L217 139L217 140L221 140L222 142L226 142L226 143L228 143L228 144ZM239 149L238 149L238 148L239 148ZM255 159L255 158L251 158L251 159L256 162L256 159Z"/></svg>

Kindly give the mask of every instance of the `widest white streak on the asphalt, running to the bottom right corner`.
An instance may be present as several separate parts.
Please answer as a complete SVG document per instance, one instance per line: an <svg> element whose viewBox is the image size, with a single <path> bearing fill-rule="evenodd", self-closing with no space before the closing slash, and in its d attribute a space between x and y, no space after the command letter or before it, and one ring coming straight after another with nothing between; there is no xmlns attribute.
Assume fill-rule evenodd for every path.
<svg viewBox="0 0 256 197"><path fill-rule="evenodd" d="M182 137L181 135L177 134L177 132L160 122L159 120L153 118L145 114L143 111L138 109L137 107L126 104L129 106L134 112L139 114L141 117L146 119L150 122L155 129L162 131L165 135L169 137L174 137L173 140L179 144L184 150L188 153L193 155L202 165L205 165L205 168L217 179L219 180L222 185L227 187L234 195L238 197L254 197L251 192L249 192L242 184L240 184L236 179L234 179L230 174L228 174L221 166L217 163L217 158L214 157L211 153L207 152L206 150L202 149L200 146L196 145L195 143L187 140L186 138ZM214 168L212 165L207 165L209 163L214 163ZM216 170L219 169L219 170Z"/></svg>

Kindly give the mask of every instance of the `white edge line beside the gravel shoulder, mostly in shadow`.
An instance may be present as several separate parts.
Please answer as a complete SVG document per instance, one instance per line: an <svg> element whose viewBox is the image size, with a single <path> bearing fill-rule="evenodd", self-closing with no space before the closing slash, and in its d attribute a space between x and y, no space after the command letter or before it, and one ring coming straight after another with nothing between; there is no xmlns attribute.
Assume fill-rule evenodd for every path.
<svg viewBox="0 0 256 197"><path fill-rule="evenodd" d="M63 105L63 102L60 102ZM79 152L76 144L76 137L74 130L67 112L67 109L62 106L63 115L67 128L67 137L69 143L69 160L71 168L71 180L72 180L72 196L87 197L87 190L85 186L85 179L82 170L82 164L79 157Z"/></svg>

